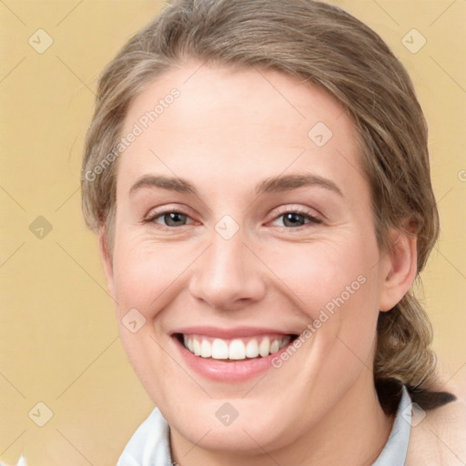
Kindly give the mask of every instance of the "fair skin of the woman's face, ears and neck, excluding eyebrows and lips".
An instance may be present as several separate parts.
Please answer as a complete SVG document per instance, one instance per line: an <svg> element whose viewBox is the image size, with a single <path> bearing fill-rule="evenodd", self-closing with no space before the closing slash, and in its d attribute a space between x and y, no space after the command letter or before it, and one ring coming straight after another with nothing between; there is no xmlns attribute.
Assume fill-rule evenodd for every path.
<svg viewBox="0 0 466 466"><path fill-rule="evenodd" d="M168 421L182 466L371 464L392 426L371 371L377 317L410 289L416 239L392 232L395 246L380 252L355 129L336 99L278 72L199 66L157 77L122 131L179 89L118 159L111 254L100 234L128 358ZM323 147L308 137L319 121L333 133ZM255 194L265 178L291 173L325 177L342 196L320 186ZM198 195L160 187L130 194L147 174L185 178ZM283 214L297 208L321 222L289 226ZM167 226L167 211L186 214L185 224ZM225 215L239 228L228 240L215 229ZM360 275L360 289L265 377L207 380L169 336L189 325L299 334ZM146 324L131 333L121 319L134 308ZM226 401L238 411L228 426L216 417Z"/></svg>

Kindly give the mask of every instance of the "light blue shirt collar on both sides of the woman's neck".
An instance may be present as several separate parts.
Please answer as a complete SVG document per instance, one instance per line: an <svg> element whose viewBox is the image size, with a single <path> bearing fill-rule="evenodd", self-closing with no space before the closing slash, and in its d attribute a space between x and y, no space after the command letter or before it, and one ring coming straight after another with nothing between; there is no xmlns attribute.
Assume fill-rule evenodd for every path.
<svg viewBox="0 0 466 466"><path fill-rule="evenodd" d="M372 466L402 466L410 442L411 400L403 386L390 437ZM167 420L157 408L137 429L123 451L117 466L172 466Z"/></svg>

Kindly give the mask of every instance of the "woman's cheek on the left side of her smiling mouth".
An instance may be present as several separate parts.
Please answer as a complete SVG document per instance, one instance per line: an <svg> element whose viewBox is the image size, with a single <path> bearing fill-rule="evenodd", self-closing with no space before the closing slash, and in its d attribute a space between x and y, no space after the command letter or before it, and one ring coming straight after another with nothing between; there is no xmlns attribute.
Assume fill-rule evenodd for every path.
<svg viewBox="0 0 466 466"><path fill-rule="evenodd" d="M120 338L137 377L151 398L159 400L160 389L154 380L173 379L174 368L159 344L154 321L177 293L186 288L183 272L194 257L190 258L187 248L175 243L162 245L123 234L116 239L114 277ZM133 333L125 322L134 309L144 324Z"/></svg>

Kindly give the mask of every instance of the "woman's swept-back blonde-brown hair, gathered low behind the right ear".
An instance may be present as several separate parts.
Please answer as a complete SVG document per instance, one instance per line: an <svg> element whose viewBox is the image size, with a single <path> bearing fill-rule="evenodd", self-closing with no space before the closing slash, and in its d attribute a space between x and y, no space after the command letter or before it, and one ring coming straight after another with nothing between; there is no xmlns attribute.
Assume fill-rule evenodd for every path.
<svg viewBox="0 0 466 466"><path fill-rule="evenodd" d="M111 243L115 147L128 106L144 86L187 58L279 70L337 97L357 130L380 250L390 249L390 228L410 222L417 231L419 274L439 235L439 218L427 125L410 77L370 27L310 0L179 0L127 42L100 77L86 137L82 199L89 228L105 227ZM112 153L115 160L106 163ZM411 291L380 312L377 333L374 381L386 412L395 410L401 384L424 409L453 399L433 390L431 324Z"/></svg>

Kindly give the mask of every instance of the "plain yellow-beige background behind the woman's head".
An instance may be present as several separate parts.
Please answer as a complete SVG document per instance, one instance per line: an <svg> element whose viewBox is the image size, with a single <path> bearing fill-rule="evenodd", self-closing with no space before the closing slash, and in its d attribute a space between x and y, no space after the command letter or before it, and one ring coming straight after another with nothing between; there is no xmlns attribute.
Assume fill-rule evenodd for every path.
<svg viewBox="0 0 466 466"><path fill-rule="evenodd" d="M465 393L466 2L334 3L389 43L407 66L429 121L442 233L420 292L442 366ZM78 187L96 77L161 5L129 0L0 3L4 461L15 463L24 451L30 466L115 464L152 409L117 339L96 238L81 218ZM407 35L413 28L421 36ZM45 46L47 37L38 29L53 39L42 54L36 48ZM422 37L425 46L412 53ZM43 219L35 220L39 216L52 226L50 232ZM37 238L40 234L43 238ZM53 416L46 422L49 410ZM43 422L43 427L36 425Z"/></svg>

